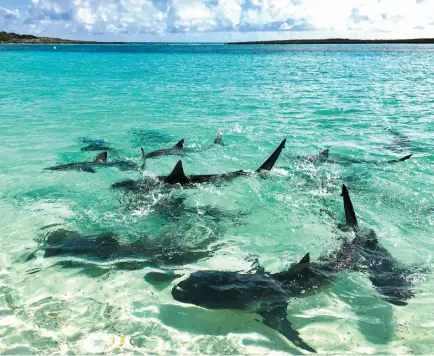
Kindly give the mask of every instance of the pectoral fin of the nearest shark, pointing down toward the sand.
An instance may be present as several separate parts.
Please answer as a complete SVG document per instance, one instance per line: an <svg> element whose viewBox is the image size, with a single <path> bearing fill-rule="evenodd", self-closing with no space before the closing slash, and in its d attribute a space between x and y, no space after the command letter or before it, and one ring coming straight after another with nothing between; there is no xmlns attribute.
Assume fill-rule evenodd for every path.
<svg viewBox="0 0 434 356"><path fill-rule="evenodd" d="M261 311L258 314L264 318L263 323L265 325L277 330L295 346L303 350L316 353L314 348L310 347L303 341L303 339L300 337L300 333L292 328L291 323L286 318L286 306L287 305L284 304L276 307L270 307L269 309Z"/></svg>

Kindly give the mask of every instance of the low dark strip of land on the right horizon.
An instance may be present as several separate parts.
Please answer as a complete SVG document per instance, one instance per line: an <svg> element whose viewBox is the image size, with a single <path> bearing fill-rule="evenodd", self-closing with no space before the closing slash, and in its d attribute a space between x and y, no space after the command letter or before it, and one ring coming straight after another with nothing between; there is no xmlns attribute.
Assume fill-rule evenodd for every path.
<svg viewBox="0 0 434 356"><path fill-rule="evenodd" d="M253 44L385 44L385 43L408 43L408 44L434 44L434 38L411 38L397 40L356 40L349 38L328 38L317 40L275 40L275 41L250 41L250 42L229 42L230 45L253 45Z"/></svg>

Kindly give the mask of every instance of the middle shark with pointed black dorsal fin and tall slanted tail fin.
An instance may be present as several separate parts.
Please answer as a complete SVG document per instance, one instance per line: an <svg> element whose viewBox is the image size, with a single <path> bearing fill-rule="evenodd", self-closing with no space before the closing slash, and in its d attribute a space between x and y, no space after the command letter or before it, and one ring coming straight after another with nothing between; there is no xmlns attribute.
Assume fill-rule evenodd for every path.
<svg viewBox="0 0 434 356"><path fill-rule="evenodd" d="M280 156L280 153L285 147L285 144L286 144L286 139L284 139L280 143L280 145L276 148L273 154L270 157L268 157L268 159L255 171L239 170L239 171L234 171L229 173L219 173L219 174L186 175L184 172L182 161L180 160L176 163L175 168L172 170L172 172L169 175L159 176L157 177L157 180L159 182L168 185L180 184L183 186L189 186L189 185L191 186L195 184L214 182L216 180L230 180L237 177L260 174L262 172L270 171L273 168L274 164L276 163L277 159ZM112 188L124 189L130 191L140 191L142 189L142 181L125 180L122 182L112 184Z"/></svg>

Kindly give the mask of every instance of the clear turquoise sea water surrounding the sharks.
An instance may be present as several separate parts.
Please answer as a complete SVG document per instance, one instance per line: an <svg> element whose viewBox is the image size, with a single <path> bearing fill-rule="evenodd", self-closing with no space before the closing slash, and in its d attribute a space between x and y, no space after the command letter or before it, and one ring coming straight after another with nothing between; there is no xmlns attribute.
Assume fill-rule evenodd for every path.
<svg viewBox="0 0 434 356"><path fill-rule="evenodd" d="M423 267L415 297L393 306L348 271L291 300L288 319L321 353L432 353L434 46L56 47L0 46L0 354L299 353L255 314L180 304L176 281L144 276L247 272L255 261L277 272L307 252L318 259L339 246L342 183L359 224L399 261ZM212 145L218 131L222 146ZM253 170L287 145L266 177L141 196L110 189L138 171L43 170L93 159L81 151L92 140L116 149L109 160L140 163L140 147L181 138L187 174ZM340 161L299 158L325 148ZM179 159L148 160L143 174L168 174ZM56 229L211 253L140 268L29 258Z"/></svg>

